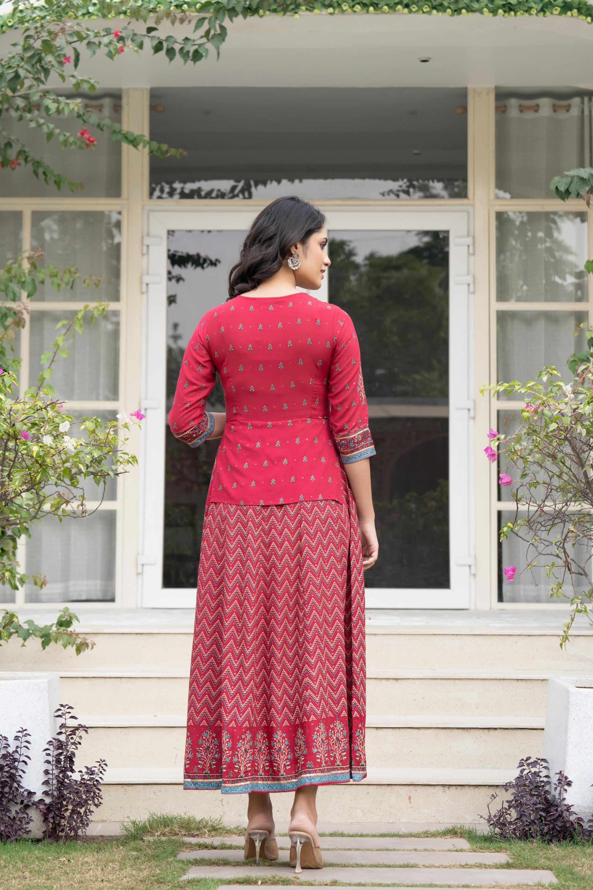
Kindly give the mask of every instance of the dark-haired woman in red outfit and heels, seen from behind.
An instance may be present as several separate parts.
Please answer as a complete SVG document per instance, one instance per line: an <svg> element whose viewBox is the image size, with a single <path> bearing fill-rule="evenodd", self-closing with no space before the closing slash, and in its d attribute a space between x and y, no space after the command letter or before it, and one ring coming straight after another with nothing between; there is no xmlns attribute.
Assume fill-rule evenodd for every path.
<svg viewBox="0 0 593 890"><path fill-rule="evenodd" d="M365 778L363 570L377 559L360 350L318 289L325 217L262 210L226 303L189 341L169 415L220 439L204 518L185 783L249 793L245 858L277 859L270 791L294 790L297 872L322 868L317 786ZM226 413L205 410L216 374ZM356 504L356 509L355 509Z"/></svg>

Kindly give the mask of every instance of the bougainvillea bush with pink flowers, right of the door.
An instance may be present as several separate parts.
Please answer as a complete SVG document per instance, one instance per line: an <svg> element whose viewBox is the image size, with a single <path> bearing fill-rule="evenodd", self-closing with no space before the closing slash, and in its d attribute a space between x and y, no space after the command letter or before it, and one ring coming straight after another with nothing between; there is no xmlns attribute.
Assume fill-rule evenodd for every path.
<svg viewBox="0 0 593 890"><path fill-rule="evenodd" d="M593 330L587 336L590 349ZM568 383L549 366L525 385L480 387L525 402L513 432L491 429L485 455L501 461L499 484L512 495L515 515L502 525L501 540L512 534L526 545L525 566L504 566L507 583L545 568L550 598L570 603L561 647L577 614L593 624L593 359L581 353L571 365L577 376Z"/></svg>

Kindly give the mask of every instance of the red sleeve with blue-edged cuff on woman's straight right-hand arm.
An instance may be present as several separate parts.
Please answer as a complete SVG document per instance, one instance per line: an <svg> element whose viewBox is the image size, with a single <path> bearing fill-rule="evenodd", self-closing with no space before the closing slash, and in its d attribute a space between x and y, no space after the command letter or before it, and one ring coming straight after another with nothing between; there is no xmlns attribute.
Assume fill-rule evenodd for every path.
<svg viewBox="0 0 593 890"><path fill-rule="evenodd" d="M366 407L357 332L346 312L336 316L328 399L333 438L343 464L376 454Z"/></svg>

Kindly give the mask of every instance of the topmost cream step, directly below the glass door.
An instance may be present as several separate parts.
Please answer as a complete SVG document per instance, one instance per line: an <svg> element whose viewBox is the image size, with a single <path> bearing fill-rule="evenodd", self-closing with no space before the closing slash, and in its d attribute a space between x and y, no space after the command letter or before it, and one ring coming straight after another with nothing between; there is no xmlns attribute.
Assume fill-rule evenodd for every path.
<svg viewBox="0 0 593 890"><path fill-rule="evenodd" d="M21 620L30 610L19 609ZM88 635L96 646L92 651L76 656L53 646L42 651L38 641L30 641L21 647L20 640L13 639L0 648L0 669L10 670L76 670L83 663L92 669L136 667L150 669L168 667L186 670L189 664L193 621L183 627L148 627L140 614L136 626L118 619L119 627L97 627L85 624L83 618L77 629ZM36 613L35 613L36 614ZM44 620L48 612L44 612ZM53 617L53 616L52 616ZM40 621L36 614L36 620ZM463 665L468 669L504 669L513 665L517 669L543 670L562 673L593 673L591 635L587 627L577 627L571 633L567 651L558 647L558 628L564 617L558 614L557 624L552 627L530 627L529 621L517 627L401 627L366 626L366 653L369 670L389 668L423 668L437 664L442 668ZM128 619L129 621L129 619Z"/></svg>

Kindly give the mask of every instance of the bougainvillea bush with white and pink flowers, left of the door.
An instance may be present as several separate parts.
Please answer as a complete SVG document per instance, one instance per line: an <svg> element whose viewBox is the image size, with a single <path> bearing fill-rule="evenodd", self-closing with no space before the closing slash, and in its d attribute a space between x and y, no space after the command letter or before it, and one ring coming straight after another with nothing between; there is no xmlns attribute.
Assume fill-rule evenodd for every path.
<svg viewBox="0 0 593 890"><path fill-rule="evenodd" d="M20 302L21 292L32 296L44 282L60 291L73 287L79 278L74 267L62 271L45 267L39 252L23 255L0 270L4 297L0 308L0 583L12 589L28 580L16 554L19 538L30 534L33 523L47 516L72 522L88 515L87 501L100 503L108 480L137 464L135 455L124 450L127 439L122 434L139 425L140 411L108 423L97 417L75 420L56 399L50 383L56 361L68 359L74 336L83 332L85 322L92 325L100 319L108 303L86 305L72 320L60 321L52 348L41 356L37 384L20 394L20 360L12 344L28 312L26 303ZM99 287L100 280L88 278L83 284ZM39 587L45 584L44 577L32 579ZM8 633L13 623L4 619L3 630ZM68 630L71 623L56 630Z"/></svg>

